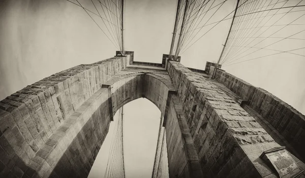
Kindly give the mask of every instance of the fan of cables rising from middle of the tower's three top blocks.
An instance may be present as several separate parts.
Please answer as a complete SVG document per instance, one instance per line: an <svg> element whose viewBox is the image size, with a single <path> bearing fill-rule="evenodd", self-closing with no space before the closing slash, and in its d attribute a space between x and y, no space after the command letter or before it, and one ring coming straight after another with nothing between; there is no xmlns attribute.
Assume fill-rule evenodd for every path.
<svg viewBox="0 0 305 178"><path fill-rule="evenodd" d="M215 22L214 19L215 14L221 11L221 7L227 1L228 0L220 2L216 0L178 0L169 54L173 55L174 58L177 58L179 54L190 48L218 23L227 20L222 19ZM203 35L199 32L203 32ZM198 38L198 36L200 37Z"/></svg>

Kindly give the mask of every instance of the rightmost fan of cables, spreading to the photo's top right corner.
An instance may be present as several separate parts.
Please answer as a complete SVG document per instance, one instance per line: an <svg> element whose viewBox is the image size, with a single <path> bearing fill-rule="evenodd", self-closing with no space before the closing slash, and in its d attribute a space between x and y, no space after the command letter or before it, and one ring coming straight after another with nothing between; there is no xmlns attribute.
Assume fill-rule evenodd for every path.
<svg viewBox="0 0 305 178"><path fill-rule="evenodd" d="M305 1L240 0L236 4L219 64L229 66L281 53L305 57Z"/></svg>

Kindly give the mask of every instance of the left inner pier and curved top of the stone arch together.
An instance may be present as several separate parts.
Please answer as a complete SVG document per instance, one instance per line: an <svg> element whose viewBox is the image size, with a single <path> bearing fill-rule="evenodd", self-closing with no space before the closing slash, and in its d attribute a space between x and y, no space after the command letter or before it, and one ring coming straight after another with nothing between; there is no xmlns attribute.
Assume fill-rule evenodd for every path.
<svg viewBox="0 0 305 178"><path fill-rule="evenodd" d="M115 113L120 106L140 97L150 99L159 109L165 108L162 103L166 103L168 87L161 80L156 80L148 74L133 75L125 71L112 76L74 111L68 118L69 123L65 124L65 121L65 126L60 126L60 131L57 130L36 154L30 164L34 167L35 175L86 177L108 132L111 117L109 108L112 107ZM155 83L154 87L152 83ZM143 85L147 85L150 90L143 92L146 91Z"/></svg>

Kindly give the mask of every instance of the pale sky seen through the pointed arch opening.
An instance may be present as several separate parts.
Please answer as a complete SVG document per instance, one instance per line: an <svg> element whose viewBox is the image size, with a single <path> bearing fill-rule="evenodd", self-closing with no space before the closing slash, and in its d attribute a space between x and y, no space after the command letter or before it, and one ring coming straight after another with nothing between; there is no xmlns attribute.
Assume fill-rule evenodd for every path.
<svg viewBox="0 0 305 178"><path fill-rule="evenodd" d="M114 122L117 121L117 113L114 116ZM160 115L161 112L156 105L145 98L134 100L124 106L126 177L151 177L156 154ZM88 177L104 177L114 122L110 124L108 135Z"/></svg>

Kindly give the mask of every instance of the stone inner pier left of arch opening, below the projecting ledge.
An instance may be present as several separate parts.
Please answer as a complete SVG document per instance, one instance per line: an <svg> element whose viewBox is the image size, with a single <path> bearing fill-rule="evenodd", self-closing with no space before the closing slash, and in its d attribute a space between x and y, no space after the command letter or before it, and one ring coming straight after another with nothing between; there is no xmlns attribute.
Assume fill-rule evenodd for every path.
<svg viewBox="0 0 305 178"><path fill-rule="evenodd" d="M69 118L72 126L57 134L62 136L62 141L57 141L59 152L55 152L60 159L54 160L57 164L51 177L88 176L108 133L112 114L109 107L108 90L101 88Z"/></svg>

